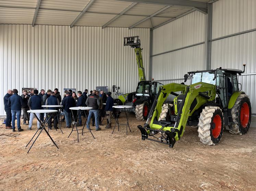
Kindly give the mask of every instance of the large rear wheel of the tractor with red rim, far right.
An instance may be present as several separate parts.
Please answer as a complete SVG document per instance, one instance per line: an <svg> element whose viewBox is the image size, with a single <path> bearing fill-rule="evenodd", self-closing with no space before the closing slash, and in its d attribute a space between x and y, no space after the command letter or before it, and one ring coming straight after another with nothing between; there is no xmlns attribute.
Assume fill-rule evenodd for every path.
<svg viewBox="0 0 256 191"><path fill-rule="evenodd" d="M252 107L246 94L240 94L231 109L233 122L229 126L229 132L233 134L246 134L250 128Z"/></svg>

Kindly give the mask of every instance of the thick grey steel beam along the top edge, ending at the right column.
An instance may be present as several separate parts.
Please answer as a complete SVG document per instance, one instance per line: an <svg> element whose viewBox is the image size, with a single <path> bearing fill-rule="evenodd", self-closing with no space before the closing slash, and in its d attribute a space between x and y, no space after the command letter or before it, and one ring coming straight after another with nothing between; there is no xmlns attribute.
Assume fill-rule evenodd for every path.
<svg viewBox="0 0 256 191"><path fill-rule="evenodd" d="M148 3L148 4L157 4L157 5L177 5L177 6L207 9L207 3L197 2L197 1L188 1L188 0L119 0L119 1Z"/></svg>

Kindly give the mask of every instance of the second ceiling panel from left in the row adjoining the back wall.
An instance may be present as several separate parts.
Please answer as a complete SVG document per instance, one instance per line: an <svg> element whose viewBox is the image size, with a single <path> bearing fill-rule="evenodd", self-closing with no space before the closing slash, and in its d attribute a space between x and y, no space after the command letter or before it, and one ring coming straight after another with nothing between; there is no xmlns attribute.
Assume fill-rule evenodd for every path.
<svg viewBox="0 0 256 191"><path fill-rule="evenodd" d="M70 25L79 12L39 9L36 25Z"/></svg>

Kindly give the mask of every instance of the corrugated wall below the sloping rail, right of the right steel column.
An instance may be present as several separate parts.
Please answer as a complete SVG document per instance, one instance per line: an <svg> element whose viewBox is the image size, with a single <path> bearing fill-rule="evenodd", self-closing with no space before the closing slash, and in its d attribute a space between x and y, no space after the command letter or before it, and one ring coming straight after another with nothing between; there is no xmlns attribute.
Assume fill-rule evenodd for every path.
<svg viewBox="0 0 256 191"><path fill-rule="evenodd" d="M254 40L253 40L254 39ZM256 31L212 42L211 68L234 68L245 73L256 73ZM256 75L239 77L242 90L249 95L253 113L256 113Z"/></svg>

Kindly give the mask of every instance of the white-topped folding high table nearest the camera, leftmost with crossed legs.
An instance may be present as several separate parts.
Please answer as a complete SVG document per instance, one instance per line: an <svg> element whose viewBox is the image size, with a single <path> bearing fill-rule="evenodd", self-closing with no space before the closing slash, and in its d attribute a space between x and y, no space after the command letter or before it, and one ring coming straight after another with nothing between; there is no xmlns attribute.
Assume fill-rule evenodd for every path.
<svg viewBox="0 0 256 191"><path fill-rule="evenodd" d="M47 115L49 115L49 113L51 113L51 116L50 116L50 117L52 117L53 113L56 113L56 112L58 112L58 111L57 111L57 110L51 110L51 109L35 109L35 110L28 110L27 112L28 112L28 113L33 113L33 114L36 116L36 119L39 121L39 123L40 123L41 126L42 126L42 129L37 128L36 133L35 133L34 136L31 138L31 140L28 142L28 144L29 144L31 141L32 141L33 143L32 143L32 145L30 146L30 148L28 149L27 153L28 153L29 150L32 148L32 146L33 146L34 143L36 142L36 139L38 138L38 136L40 135L40 133L42 132L43 129L45 130L45 132L47 133L47 135L50 137L52 143L53 143L57 148L59 148L59 147L56 145L56 143L53 141L53 139L51 138L51 136L49 135L48 131L46 131L46 129L45 129L45 126L46 126L46 124L47 124L49 118L48 118L48 120L47 120L46 122L45 122L45 120L46 120L47 118L45 118L45 120L43 121L43 123L44 123L44 122L45 122L45 123L42 124L42 122L40 121L40 119L39 119L39 118L37 117L37 115L36 115L36 113L46 113L46 116L47 116ZM37 134L37 132L39 131L39 129L40 129L40 132L39 132L39 134L36 136L35 141L33 141L33 138L35 137L35 135ZM28 144L26 145L26 147L28 146Z"/></svg>

